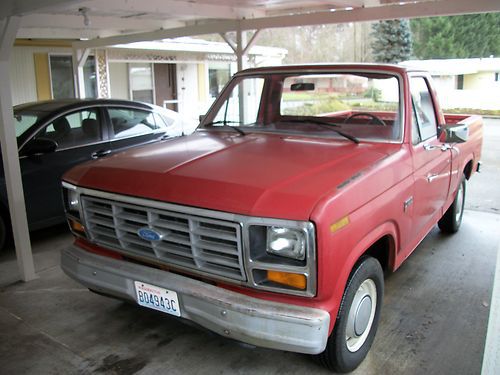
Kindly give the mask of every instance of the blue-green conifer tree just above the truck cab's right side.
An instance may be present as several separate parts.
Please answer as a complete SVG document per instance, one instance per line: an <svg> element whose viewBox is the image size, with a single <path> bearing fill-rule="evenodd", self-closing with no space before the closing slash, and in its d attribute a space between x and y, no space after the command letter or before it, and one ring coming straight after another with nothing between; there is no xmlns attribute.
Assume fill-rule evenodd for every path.
<svg viewBox="0 0 500 375"><path fill-rule="evenodd" d="M376 62L398 63L412 53L412 38L408 20L379 21L372 25L372 55Z"/></svg>

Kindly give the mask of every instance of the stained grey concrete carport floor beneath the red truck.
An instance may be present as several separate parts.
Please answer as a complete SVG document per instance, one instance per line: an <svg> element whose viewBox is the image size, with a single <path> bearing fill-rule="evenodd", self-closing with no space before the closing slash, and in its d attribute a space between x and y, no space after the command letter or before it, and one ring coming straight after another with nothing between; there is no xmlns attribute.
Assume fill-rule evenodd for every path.
<svg viewBox="0 0 500 375"><path fill-rule="evenodd" d="M386 278L375 343L354 374L481 372L500 243L500 121L486 133L462 228L434 229ZM2 374L328 373L308 356L243 346L88 292L59 268L65 226L32 240L37 280L17 282L13 250L0 255Z"/></svg>

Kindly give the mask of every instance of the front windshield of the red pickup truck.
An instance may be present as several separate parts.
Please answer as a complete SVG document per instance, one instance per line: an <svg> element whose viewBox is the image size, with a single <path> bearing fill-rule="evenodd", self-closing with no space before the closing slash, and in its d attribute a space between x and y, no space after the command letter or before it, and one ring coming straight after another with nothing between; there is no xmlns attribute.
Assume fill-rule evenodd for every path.
<svg viewBox="0 0 500 375"><path fill-rule="evenodd" d="M401 89L381 72L272 73L234 79L204 129L400 141Z"/></svg>

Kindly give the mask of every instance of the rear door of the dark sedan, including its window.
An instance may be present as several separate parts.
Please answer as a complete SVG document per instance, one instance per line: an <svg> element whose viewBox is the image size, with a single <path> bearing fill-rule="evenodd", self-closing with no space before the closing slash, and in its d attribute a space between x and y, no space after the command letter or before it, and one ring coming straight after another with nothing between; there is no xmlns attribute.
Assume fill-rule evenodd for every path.
<svg viewBox="0 0 500 375"><path fill-rule="evenodd" d="M156 112L131 107L107 108L113 152L156 142L166 135L167 124Z"/></svg>

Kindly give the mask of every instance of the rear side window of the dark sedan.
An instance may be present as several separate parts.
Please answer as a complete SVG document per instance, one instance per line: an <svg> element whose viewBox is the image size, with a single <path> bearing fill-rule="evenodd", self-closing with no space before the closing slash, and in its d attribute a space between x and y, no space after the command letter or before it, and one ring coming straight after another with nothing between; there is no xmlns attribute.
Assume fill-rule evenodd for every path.
<svg viewBox="0 0 500 375"><path fill-rule="evenodd" d="M152 112L133 108L109 108L112 139L137 137L159 129Z"/></svg>

